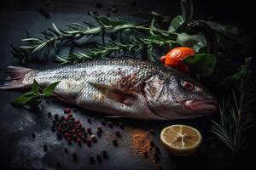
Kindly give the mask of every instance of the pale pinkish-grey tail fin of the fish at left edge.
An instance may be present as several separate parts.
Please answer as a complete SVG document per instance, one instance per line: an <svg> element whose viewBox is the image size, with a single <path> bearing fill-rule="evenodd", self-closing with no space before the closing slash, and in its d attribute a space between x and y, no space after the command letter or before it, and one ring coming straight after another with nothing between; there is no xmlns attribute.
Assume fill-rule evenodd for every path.
<svg viewBox="0 0 256 170"><path fill-rule="evenodd" d="M4 84L0 86L0 90L27 88L27 85L23 84L22 81L25 75L30 71L32 71L32 69L20 66L9 66L7 69L8 77L6 77Z"/></svg>

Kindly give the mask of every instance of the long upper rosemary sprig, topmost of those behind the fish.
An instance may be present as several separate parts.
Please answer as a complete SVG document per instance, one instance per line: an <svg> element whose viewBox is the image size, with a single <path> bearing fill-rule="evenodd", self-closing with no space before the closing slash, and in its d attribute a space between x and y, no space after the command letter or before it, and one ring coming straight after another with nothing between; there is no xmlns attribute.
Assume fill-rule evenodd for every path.
<svg viewBox="0 0 256 170"><path fill-rule="evenodd" d="M26 62L26 60L32 58L32 56L43 54L47 57L55 54L55 50L59 48L62 43L73 42L83 37L88 37L88 39L91 40L100 34L102 34L102 45L105 45L105 37L107 33L113 35L117 32L129 32L129 35L132 37L137 35L138 32L142 34L148 34L149 32L149 35L168 38L169 40L176 40L175 36L178 35L178 33L174 31L157 29L154 26L154 19L152 20L151 25L147 27L123 20L99 17L93 14L91 14L91 16L96 20L98 26L89 23L73 23L67 25L66 29L60 29L55 26L55 24L52 24L52 28L42 31L44 39L34 37L22 39L21 41L25 42L26 45L20 45L18 47L13 46L12 54L14 54L16 58L21 59L22 62ZM109 46L111 46L111 44Z"/></svg>

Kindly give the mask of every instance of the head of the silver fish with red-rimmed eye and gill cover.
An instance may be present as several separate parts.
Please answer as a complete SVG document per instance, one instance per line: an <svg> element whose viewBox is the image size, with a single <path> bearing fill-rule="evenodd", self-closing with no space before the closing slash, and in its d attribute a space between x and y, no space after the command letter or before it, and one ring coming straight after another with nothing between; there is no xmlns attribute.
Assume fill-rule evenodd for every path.
<svg viewBox="0 0 256 170"><path fill-rule="evenodd" d="M143 90L149 109L164 119L193 118L218 111L217 99L207 88L171 68L150 77Z"/></svg>

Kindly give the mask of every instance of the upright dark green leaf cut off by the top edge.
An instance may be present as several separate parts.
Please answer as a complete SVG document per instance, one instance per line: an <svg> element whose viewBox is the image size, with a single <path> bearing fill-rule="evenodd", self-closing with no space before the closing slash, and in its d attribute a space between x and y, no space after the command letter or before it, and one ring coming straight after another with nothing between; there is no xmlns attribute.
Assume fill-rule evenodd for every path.
<svg viewBox="0 0 256 170"><path fill-rule="evenodd" d="M180 1L181 8L182 8L182 14L183 14L183 20L191 20L193 17L193 3L191 0L181 0Z"/></svg>

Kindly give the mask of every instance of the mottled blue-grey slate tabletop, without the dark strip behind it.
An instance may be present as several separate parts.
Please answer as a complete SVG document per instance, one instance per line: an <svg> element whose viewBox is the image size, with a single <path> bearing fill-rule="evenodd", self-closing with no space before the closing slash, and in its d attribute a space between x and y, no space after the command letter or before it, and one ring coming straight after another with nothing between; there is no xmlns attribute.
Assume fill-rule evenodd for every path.
<svg viewBox="0 0 256 170"><path fill-rule="evenodd" d="M1 23L1 62L0 62L0 80L3 82L4 69L7 65L20 65L20 63L9 53L10 44L20 42L24 37L25 29L31 35L38 35L39 31L54 22L57 26L65 26L67 23L90 21L86 14L50 14L49 20L42 17L35 11L18 11L3 9L0 12ZM125 17L122 16L124 18ZM134 19L133 19L134 20ZM63 54L67 54L64 51ZM49 61L46 64L28 64L26 66L44 69L54 67L56 64ZM159 164L163 169L222 169L249 165L246 156L234 161L230 158L223 145L218 144L211 138L210 126L212 117L203 117L194 120L176 121L176 122L146 122L136 120L111 119L114 124L113 129L103 127L104 133L113 138L115 130L119 129L116 124L124 122L125 129L121 130L122 138L119 139L119 146L114 147L108 138L99 139L97 144L91 148L86 145L79 147L76 144L68 145L64 140L57 140L55 133L50 131L51 119L47 116L50 111L52 114L58 113L64 115L62 109L74 107L67 105L58 99L50 98L49 104L44 105L44 110L34 112L22 108L15 108L9 104L20 92L0 91L0 167L1 169L56 169L57 162L61 163L61 169L157 169L156 163L153 163L143 156L137 156L131 151L131 141L129 133L131 129L142 129L147 131L149 128L156 129L157 134L150 137L155 144L160 147ZM85 127L96 128L101 125L101 118L104 116L93 111L86 111L78 108L74 116L80 118ZM87 118L92 118L88 123ZM160 129L174 123L188 124L197 127L203 135L203 143L198 152L193 156L176 157L167 154L159 140ZM32 133L36 138L32 139ZM43 144L48 144L49 150L43 150ZM64 148L68 148L69 153L65 154ZM102 163L96 162L91 165L89 156L96 156L102 150L108 150L109 159ZM77 162L73 162L72 153L76 152L79 156Z"/></svg>

